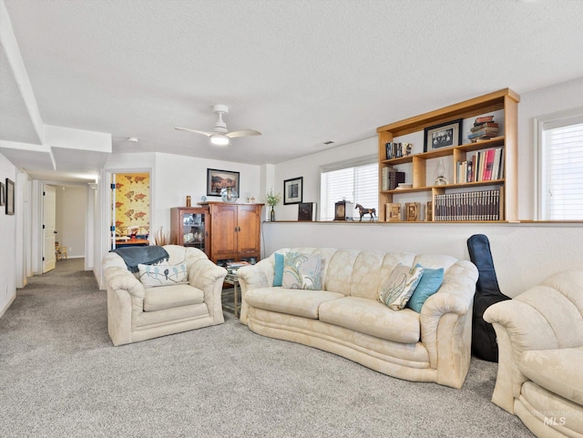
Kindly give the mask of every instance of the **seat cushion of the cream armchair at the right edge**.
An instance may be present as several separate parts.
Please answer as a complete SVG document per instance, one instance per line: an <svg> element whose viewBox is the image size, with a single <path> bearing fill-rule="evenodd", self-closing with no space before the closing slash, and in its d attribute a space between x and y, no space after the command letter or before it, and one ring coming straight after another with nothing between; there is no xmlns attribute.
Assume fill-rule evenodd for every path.
<svg viewBox="0 0 583 438"><path fill-rule="evenodd" d="M550 392L583 404L583 347L523 352L518 369Z"/></svg>

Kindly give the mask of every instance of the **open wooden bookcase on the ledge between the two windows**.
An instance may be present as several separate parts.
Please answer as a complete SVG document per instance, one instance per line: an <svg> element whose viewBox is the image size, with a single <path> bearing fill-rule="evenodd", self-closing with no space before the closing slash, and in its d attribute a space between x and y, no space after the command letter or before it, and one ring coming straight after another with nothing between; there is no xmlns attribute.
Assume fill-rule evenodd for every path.
<svg viewBox="0 0 583 438"><path fill-rule="evenodd" d="M424 201L431 201L429 204L432 208L429 215L431 221L517 220L517 105L519 100L520 97L516 93L506 88L378 127L379 221L389 221L386 214L387 204L401 204L404 209L408 202L414 204L422 198ZM473 126L476 117L491 114L496 114L495 121L500 126L496 138L471 143L467 139L469 127ZM448 122L454 123L459 119L463 120L461 127L463 136L459 145L423 151L426 128L439 127ZM411 138L415 138L411 155L387 159L387 143L410 142L407 140ZM496 148L499 149L503 163L499 178L465 182L465 178L459 177L458 163L463 164L477 152ZM435 181L435 168L439 160L443 160L442 164L445 162L445 168L449 169L449 178L445 184L436 184ZM383 189L386 188L383 186L383 174L385 172L386 175L387 171L384 168L404 171L406 181L412 186ZM429 171L430 168L432 172ZM467 214L469 209L474 210L475 205L472 202L479 197L490 196L489 193L499 197L497 210L496 204L492 204L495 214L483 217ZM445 201L448 203L446 207L453 210L455 214L446 217L443 211L437 210L436 204L443 206ZM390 206L388 208L390 209ZM427 217L426 214L424 216Z"/></svg>

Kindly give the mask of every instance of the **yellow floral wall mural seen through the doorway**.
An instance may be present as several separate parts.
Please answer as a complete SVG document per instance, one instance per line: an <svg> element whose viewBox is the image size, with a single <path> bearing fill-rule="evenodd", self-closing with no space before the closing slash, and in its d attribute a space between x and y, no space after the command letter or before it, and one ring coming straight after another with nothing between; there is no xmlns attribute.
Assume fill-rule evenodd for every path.
<svg viewBox="0 0 583 438"><path fill-rule="evenodd" d="M116 230L118 236L149 234L149 174L116 174Z"/></svg>

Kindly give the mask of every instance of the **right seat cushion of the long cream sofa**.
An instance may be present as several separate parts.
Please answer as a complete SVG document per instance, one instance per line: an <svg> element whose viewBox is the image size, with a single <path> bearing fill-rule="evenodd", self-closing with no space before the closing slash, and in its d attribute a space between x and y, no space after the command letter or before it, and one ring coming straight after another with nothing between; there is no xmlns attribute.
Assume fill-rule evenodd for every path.
<svg viewBox="0 0 583 438"><path fill-rule="evenodd" d="M387 341L415 343L421 337L418 313L392 311L382 302L360 297L322 302L320 321Z"/></svg>

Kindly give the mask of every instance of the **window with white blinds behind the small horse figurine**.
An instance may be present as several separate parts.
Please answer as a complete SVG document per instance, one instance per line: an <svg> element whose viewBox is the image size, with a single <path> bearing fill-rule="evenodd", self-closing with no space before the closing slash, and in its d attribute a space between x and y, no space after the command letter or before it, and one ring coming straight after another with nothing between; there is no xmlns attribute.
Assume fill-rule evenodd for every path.
<svg viewBox="0 0 583 438"><path fill-rule="evenodd" d="M343 199L378 211L379 167L377 159L376 156L371 156L322 167L320 220L333 220L334 204Z"/></svg>

